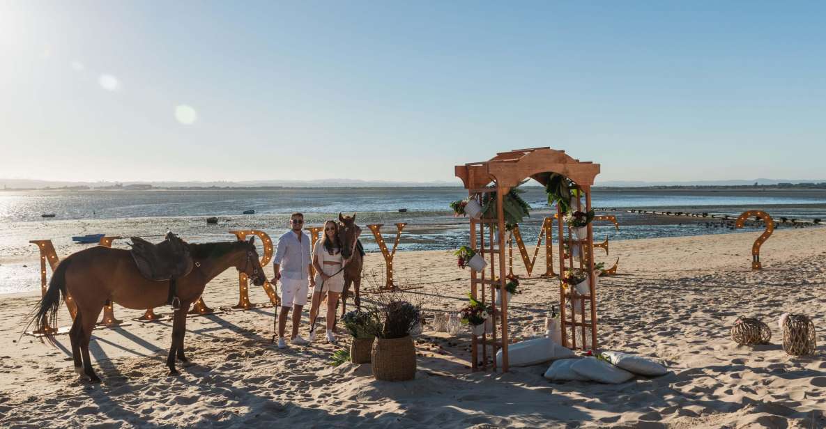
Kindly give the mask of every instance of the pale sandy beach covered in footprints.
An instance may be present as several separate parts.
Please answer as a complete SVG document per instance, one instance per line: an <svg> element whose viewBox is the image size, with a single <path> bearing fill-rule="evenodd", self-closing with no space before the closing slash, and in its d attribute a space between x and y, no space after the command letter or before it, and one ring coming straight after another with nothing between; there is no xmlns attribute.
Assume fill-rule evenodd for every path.
<svg viewBox="0 0 826 429"><path fill-rule="evenodd" d="M319 339L278 350L269 307L190 318L193 363L179 366L178 377L163 364L169 322L140 323L141 312L116 307L126 324L93 333L103 382L88 384L72 370L68 337L57 337L59 348L20 337L38 294L2 295L0 426L826 427L826 229L777 231L762 246L764 269L752 271L757 235L611 243L610 257L599 259L610 265L619 257L619 274L603 278L597 291L601 348L649 356L670 370L618 385L548 382L548 364L473 373L467 328L449 337L426 326L415 339L415 380L380 382L369 364L329 365L349 341L344 335L339 346ZM383 266L378 254L366 263L367 273ZM427 314L463 304L469 271L449 252L399 252L394 265L401 285L423 286L413 293ZM524 274L519 259L514 266ZM522 284L525 293L510 306L515 340L541 332L558 303L555 278ZM235 271L207 285L204 298L212 307L235 304ZM265 302L263 290L252 290L251 300ZM776 319L784 312L813 318L815 356L782 350ZM729 331L738 315L768 323L771 344L735 344ZM68 323L62 310L60 324Z"/></svg>

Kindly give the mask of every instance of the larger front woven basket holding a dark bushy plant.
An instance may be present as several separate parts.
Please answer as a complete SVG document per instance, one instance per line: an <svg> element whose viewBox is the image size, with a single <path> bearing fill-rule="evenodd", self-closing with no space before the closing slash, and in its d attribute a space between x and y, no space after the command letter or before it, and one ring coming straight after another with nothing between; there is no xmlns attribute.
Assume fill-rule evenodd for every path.
<svg viewBox="0 0 826 429"><path fill-rule="evenodd" d="M410 336L376 338L371 357L376 380L404 381L415 377L415 346Z"/></svg>

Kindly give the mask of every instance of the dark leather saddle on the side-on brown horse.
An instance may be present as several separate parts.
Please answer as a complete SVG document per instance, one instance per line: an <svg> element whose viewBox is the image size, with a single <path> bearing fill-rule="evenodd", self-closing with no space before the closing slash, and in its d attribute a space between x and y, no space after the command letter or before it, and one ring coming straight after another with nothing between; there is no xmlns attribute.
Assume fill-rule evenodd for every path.
<svg viewBox="0 0 826 429"><path fill-rule="evenodd" d="M178 279L195 266L188 244L173 233L166 233L166 239L158 244L132 237L131 254L140 275L151 281Z"/></svg>

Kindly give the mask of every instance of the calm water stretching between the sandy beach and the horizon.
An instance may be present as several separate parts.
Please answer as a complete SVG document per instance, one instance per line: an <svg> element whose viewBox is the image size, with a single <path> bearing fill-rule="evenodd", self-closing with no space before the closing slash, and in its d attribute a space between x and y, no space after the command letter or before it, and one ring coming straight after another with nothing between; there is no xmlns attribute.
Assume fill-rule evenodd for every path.
<svg viewBox="0 0 826 429"><path fill-rule="evenodd" d="M106 233L159 240L168 230L193 243L225 241L233 229L261 229L272 237L287 230L292 211L305 213L306 224L320 225L340 212L358 212L358 224L406 222L400 251L454 249L468 243L468 219L454 218L449 202L467 196L462 188L284 189L269 191L0 191L0 294L36 290L37 248L32 239L51 239L59 255L77 252L73 235ZM553 215L544 191L527 188L525 200L534 207L520 224L529 245L536 243L545 216ZM645 208L657 211L737 215L766 210L800 220L826 219L826 191L595 191L593 205L602 208ZM408 211L400 213L398 209ZM256 214L241 214L255 210ZM54 213L54 219L40 214ZM731 233L718 219L673 218L617 211L620 228L595 224L595 240L658 238ZM217 216L218 225L204 218ZM752 229L756 230L756 229ZM742 231L742 229L738 230ZM372 234L362 235L368 252L376 252ZM125 247L126 240L116 246Z"/></svg>

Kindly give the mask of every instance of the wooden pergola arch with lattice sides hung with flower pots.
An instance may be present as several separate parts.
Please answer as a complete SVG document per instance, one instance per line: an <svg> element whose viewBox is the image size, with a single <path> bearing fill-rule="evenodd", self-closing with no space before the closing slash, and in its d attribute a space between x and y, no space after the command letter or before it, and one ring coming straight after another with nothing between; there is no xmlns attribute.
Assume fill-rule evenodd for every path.
<svg viewBox="0 0 826 429"><path fill-rule="evenodd" d="M503 198L515 186L518 186L525 179L532 178L539 181L543 186L548 184L550 173L558 173L567 177L581 191L581 196L585 197L584 207L579 197L572 197L572 208L576 210L591 210L591 186L594 178L600 173L600 164L582 162L567 155L563 150L552 148L527 148L511 150L510 152L496 153L496 156L481 163L467 163L455 167L456 176L462 179L469 198L481 199L482 194L496 192L496 219L471 219L470 220L470 244L475 252L482 257L489 257L488 265L490 277L487 277L484 270L480 273L471 271L471 295L474 299L486 302L485 285L491 287L491 297L495 290L499 290L501 296L501 306L494 307L493 329L491 338L487 338L487 332L481 338L472 336L472 369L478 370L478 346L482 345L482 366L487 370L487 346L501 348L502 350L502 371L508 370L508 309L506 294L506 245L505 245L505 214ZM563 244L567 241L573 246L582 246L579 252L579 269L588 273L594 271L594 248L593 230L591 223L587 227L587 239L572 239L570 230L567 235L563 228L562 210L557 207L559 224L559 264L560 264L560 318L562 323L563 346L577 348L576 329L582 328L582 348L586 348L586 329L591 331L591 349L596 349L596 284L593 275L588 276L590 293L579 295L574 288L568 288L563 283L563 276L567 267L573 268L573 252L568 252L567 258L563 250ZM494 225L496 226L494 228ZM496 230L498 240L494 241L494 231ZM567 236L567 240L563 237ZM487 238L487 241L486 241ZM567 259L567 261L566 261ZM499 277L496 278L496 273ZM482 285L482 296L477 295L477 286ZM570 299L571 305L579 302L582 305L581 320L577 322L574 311L570 312L570 320L566 317L566 299ZM586 320L585 302L590 301L590 318ZM485 304L487 305L487 304ZM499 326L499 339L497 340L497 317ZM568 346L567 329L571 330L572 345ZM496 370L496 359L493 360L493 369Z"/></svg>

